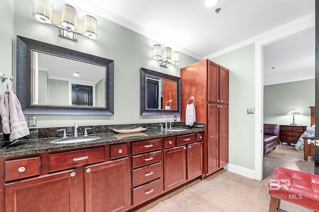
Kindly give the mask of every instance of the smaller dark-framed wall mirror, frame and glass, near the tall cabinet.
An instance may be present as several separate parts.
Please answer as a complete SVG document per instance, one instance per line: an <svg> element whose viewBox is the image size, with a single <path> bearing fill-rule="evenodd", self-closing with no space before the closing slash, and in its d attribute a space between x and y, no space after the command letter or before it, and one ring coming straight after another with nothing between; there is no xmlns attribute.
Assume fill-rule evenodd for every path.
<svg viewBox="0 0 319 212"><path fill-rule="evenodd" d="M181 79L141 68L141 115L180 115Z"/></svg>

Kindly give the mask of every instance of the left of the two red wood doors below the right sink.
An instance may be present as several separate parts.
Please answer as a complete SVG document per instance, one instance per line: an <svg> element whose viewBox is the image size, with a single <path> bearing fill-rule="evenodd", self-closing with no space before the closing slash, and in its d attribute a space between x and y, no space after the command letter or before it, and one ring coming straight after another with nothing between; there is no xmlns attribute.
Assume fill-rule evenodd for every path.
<svg viewBox="0 0 319 212"><path fill-rule="evenodd" d="M186 182L186 146L164 150L164 190Z"/></svg>

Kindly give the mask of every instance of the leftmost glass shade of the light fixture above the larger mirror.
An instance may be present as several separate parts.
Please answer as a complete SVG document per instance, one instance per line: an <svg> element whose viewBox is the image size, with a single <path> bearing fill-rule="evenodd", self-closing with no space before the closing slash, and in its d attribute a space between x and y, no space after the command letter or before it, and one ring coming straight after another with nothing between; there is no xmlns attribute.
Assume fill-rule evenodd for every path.
<svg viewBox="0 0 319 212"><path fill-rule="evenodd" d="M53 3L50 0L34 0L32 13L37 21L52 23Z"/></svg>

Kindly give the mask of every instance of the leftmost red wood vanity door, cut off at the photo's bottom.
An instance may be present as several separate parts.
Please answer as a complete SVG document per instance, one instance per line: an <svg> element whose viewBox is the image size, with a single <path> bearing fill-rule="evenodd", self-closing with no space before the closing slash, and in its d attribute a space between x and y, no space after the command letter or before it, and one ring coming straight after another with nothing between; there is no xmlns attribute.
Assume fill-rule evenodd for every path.
<svg viewBox="0 0 319 212"><path fill-rule="evenodd" d="M4 184L5 212L76 212L77 173L69 170Z"/></svg>

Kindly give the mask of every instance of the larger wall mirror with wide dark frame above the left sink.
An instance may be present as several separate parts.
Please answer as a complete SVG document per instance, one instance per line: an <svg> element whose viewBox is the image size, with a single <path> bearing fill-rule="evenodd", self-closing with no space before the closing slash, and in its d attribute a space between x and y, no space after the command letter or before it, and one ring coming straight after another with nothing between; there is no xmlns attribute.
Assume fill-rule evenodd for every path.
<svg viewBox="0 0 319 212"><path fill-rule="evenodd" d="M113 60L20 36L16 54L24 114L113 114Z"/></svg>

